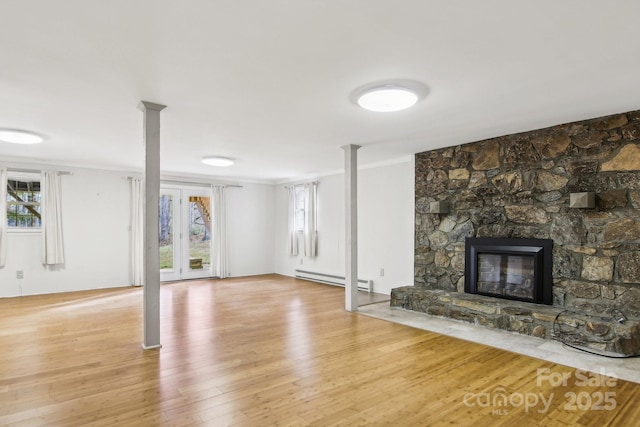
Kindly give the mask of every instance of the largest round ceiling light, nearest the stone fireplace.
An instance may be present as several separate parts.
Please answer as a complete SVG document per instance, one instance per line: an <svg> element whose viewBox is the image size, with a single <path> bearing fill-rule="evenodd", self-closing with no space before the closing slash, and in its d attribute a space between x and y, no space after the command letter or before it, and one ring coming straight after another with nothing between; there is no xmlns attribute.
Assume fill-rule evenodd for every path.
<svg viewBox="0 0 640 427"><path fill-rule="evenodd" d="M365 110L400 111L413 106L427 92L425 85L413 80L376 82L356 90L355 102Z"/></svg>

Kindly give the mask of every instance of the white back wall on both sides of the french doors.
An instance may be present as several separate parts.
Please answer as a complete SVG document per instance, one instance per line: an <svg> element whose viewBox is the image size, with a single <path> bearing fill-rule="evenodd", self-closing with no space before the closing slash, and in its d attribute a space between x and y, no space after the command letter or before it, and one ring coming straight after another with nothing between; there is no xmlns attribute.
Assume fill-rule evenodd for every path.
<svg viewBox="0 0 640 427"><path fill-rule="evenodd" d="M12 165L12 167L14 167ZM38 169L29 165L15 167ZM40 233L9 233L0 297L129 286L130 189L126 172L69 170L62 176L65 264L44 267ZM233 276L274 271L274 187L227 190L229 267ZM17 279L16 272L24 272Z"/></svg>

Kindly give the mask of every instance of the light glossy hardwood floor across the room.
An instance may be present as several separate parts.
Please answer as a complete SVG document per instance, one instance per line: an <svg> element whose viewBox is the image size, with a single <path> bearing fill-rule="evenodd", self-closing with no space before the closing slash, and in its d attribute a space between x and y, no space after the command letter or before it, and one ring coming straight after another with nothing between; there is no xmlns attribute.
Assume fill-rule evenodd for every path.
<svg viewBox="0 0 640 427"><path fill-rule="evenodd" d="M638 384L349 313L343 292L165 284L149 351L139 288L2 299L0 425L637 425Z"/></svg>

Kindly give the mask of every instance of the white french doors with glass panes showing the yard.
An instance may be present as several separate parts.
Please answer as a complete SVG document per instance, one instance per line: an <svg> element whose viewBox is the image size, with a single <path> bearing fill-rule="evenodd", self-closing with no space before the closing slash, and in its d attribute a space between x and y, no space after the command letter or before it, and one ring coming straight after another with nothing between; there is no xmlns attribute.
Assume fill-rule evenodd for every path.
<svg viewBox="0 0 640 427"><path fill-rule="evenodd" d="M160 189L160 280L211 277L211 189Z"/></svg>

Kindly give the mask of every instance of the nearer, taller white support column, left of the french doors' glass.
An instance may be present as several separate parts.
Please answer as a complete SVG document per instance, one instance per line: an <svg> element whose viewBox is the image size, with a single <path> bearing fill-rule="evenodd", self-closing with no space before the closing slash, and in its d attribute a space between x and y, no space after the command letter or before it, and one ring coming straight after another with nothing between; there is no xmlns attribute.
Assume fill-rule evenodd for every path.
<svg viewBox="0 0 640 427"><path fill-rule="evenodd" d="M144 122L144 208L143 208L143 310L142 348L160 348L160 252L158 205L160 202L160 111L165 105L141 101L138 108Z"/></svg>

